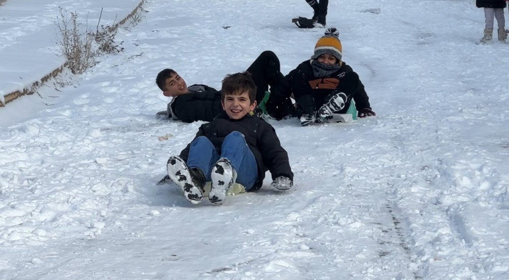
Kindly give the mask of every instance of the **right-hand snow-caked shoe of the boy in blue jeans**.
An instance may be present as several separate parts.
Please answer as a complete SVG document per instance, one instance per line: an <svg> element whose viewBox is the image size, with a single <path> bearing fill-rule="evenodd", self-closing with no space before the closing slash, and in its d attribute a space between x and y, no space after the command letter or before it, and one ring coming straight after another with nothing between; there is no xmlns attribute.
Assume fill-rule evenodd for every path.
<svg viewBox="0 0 509 280"><path fill-rule="evenodd" d="M209 201L215 205L221 205L226 199L226 193L237 179L237 172L233 169L230 160L220 158L210 174L212 187L209 192Z"/></svg>

